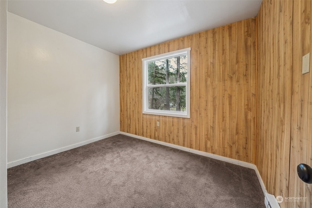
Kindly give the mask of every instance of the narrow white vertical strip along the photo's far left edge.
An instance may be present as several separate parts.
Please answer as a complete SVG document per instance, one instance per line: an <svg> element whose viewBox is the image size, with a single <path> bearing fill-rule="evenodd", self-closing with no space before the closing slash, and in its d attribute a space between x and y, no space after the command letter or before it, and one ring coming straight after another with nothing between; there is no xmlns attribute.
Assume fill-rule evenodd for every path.
<svg viewBox="0 0 312 208"><path fill-rule="evenodd" d="M7 1L0 0L0 208L7 207Z"/></svg>

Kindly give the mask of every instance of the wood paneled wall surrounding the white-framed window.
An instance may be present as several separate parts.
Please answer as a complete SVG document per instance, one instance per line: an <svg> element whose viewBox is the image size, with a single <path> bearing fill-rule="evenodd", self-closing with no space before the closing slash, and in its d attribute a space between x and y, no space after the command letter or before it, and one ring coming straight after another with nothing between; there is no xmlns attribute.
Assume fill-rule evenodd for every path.
<svg viewBox="0 0 312 208"><path fill-rule="evenodd" d="M191 118L142 114L141 59L188 47ZM255 18L122 55L120 131L255 163L256 75Z"/></svg>

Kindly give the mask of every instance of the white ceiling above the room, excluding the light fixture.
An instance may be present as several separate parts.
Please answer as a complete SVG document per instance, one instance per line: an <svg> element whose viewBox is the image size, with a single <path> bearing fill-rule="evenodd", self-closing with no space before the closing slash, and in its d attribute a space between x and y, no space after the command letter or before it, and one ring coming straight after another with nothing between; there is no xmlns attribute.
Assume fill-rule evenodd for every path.
<svg viewBox="0 0 312 208"><path fill-rule="evenodd" d="M117 55L255 17L262 0L8 0L8 11Z"/></svg>

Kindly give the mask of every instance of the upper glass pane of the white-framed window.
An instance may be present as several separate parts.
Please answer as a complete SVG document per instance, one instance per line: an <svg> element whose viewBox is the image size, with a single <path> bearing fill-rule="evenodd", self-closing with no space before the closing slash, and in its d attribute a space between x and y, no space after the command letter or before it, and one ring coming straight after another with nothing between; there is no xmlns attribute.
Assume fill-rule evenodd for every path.
<svg viewBox="0 0 312 208"><path fill-rule="evenodd" d="M148 84L187 82L187 56L177 56L148 62Z"/></svg>

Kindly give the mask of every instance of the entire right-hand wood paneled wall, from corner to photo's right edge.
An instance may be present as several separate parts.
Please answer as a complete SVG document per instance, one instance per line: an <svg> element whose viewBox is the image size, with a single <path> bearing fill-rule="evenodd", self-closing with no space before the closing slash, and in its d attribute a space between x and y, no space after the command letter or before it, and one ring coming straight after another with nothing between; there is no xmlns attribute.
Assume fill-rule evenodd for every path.
<svg viewBox="0 0 312 208"><path fill-rule="evenodd" d="M312 207L312 185L296 171L312 166L312 62L301 74L302 56L312 53L311 11L311 0L263 0L257 17L256 166L269 193L307 197L282 208Z"/></svg>

